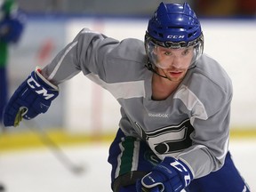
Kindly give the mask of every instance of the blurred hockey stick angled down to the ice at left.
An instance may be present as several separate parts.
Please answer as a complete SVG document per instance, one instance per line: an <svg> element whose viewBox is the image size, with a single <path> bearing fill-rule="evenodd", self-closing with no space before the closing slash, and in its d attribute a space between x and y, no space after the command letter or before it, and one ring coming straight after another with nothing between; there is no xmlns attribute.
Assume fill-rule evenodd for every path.
<svg viewBox="0 0 256 192"><path fill-rule="evenodd" d="M84 173L85 168L82 164L73 163L70 158L64 153L64 151L44 132L43 128L36 124L35 120L23 120L23 124L30 129L30 131L35 132L38 138L44 143L44 145L51 149L52 154L56 156L61 164L76 175ZM28 123L29 122L29 123Z"/></svg>

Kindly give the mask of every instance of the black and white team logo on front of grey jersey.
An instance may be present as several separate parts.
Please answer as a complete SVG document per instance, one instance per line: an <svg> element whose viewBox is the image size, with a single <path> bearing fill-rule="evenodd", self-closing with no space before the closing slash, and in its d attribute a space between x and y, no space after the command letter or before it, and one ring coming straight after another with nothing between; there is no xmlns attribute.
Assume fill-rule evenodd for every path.
<svg viewBox="0 0 256 192"><path fill-rule="evenodd" d="M143 139L148 141L149 147L156 155L179 153L192 145L190 134L195 129L190 124L189 119L180 124L166 126L153 132L144 132L139 124L137 126L140 128Z"/></svg>

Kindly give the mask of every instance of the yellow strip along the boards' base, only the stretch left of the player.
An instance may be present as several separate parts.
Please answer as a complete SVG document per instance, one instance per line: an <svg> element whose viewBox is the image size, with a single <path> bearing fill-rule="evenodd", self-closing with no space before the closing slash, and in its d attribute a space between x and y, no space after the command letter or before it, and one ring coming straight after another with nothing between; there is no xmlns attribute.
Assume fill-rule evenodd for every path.
<svg viewBox="0 0 256 192"><path fill-rule="evenodd" d="M70 146L77 144L109 143L114 140L114 134L89 135L81 133L69 133L63 129L45 132L58 146ZM20 150L25 148L47 148L44 144L44 135L38 132L2 132L0 135L0 153L10 150ZM46 139L47 141L47 139Z"/></svg>

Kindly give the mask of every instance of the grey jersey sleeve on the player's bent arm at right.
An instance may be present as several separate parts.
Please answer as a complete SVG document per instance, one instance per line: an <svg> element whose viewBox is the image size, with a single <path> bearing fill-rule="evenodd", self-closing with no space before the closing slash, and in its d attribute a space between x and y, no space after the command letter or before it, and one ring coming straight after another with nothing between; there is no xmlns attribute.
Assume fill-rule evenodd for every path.
<svg viewBox="0 0 256 192"><path fill-rule="evenodd" d="M196 76L193 77L195 81L191 82L187 91L193 95L190 97L193 102L190 101L188 108L191 108L190 123L195 132L190 135L192 146L179 157L191 166L195 178L219 170L228 153L233 89L225 71L211 62L204 61L204 65L209 65L204 66L204 72L200 68L194 71L191 76Z"/></svg>

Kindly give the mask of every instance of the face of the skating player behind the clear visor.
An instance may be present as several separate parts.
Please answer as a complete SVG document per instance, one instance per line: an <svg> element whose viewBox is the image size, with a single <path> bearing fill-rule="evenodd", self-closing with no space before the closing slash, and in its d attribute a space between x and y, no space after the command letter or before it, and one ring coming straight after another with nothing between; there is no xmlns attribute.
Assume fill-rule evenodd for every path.
<svg viewBox="0 0 256 192"><path fill-rule="evenodd" d="M156 46L156 67L171 81L181 81L186 75L194 56L194 48L170 49Z"/></svg>

